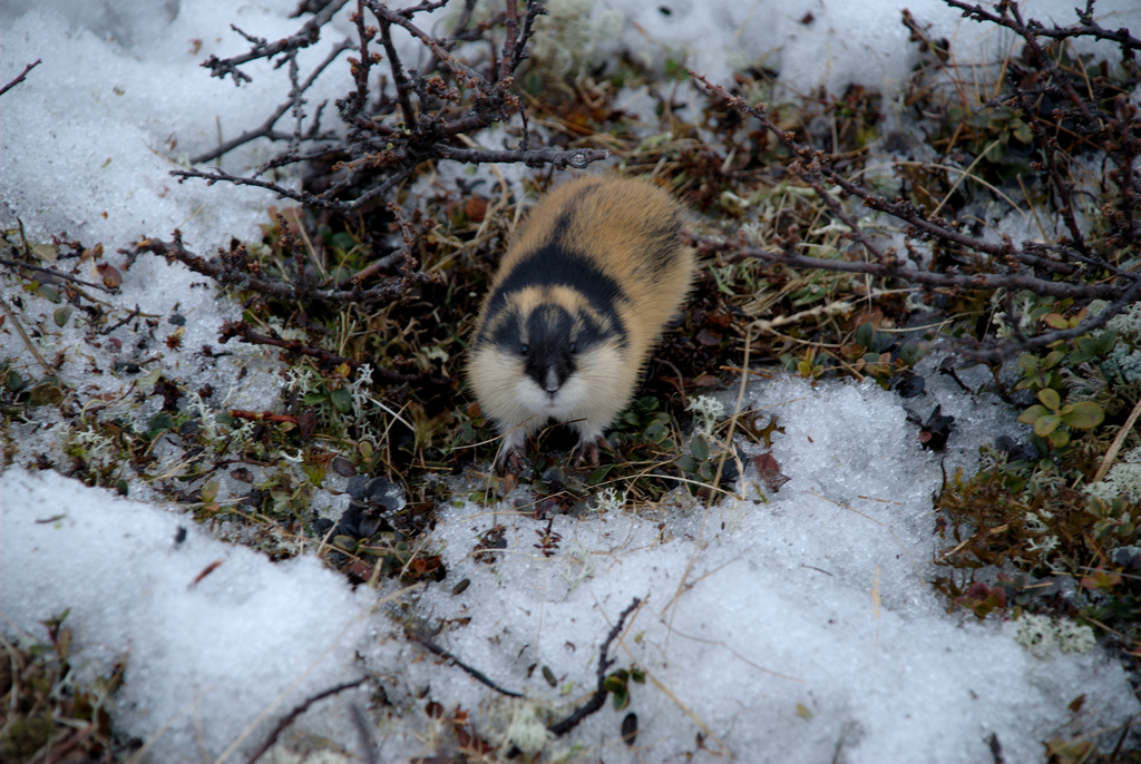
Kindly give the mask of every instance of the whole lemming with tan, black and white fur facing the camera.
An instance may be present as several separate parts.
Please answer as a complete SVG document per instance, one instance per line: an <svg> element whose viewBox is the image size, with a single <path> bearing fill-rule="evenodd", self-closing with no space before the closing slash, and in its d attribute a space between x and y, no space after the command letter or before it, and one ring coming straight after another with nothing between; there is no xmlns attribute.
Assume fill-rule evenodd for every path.
<svg viewBox="0 0 1141 764"><path fill-rule="evenodd" d="M616 177L566 182L534 208L484 300L468 364L504 436L501 456L553 418L597 458L689 291L683 218L666 192Z"/></svg>

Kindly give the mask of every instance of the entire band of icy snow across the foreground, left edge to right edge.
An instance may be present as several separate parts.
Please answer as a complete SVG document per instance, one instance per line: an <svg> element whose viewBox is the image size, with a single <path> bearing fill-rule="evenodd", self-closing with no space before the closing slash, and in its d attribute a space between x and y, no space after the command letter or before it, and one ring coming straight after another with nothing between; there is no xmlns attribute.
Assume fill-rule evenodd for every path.
<svg viewBox="0 0 1141 764"><path fill-rule="evenodd" d="M968 405L938 397L945 411ZM693 751L704 732L705 757L819 761L843 740L853 762L970 762L989 755L986 738L996 733L1010 761L1034 761L1042 740L1075 721L1067 705L1083 692L1086 728L1141 710L1120 666L1100 651L1039 658L1014 642L1012 624L944 612L923 580L941 472L892 393L790 380L758 385L746 403L770 407L785 428L772 455L792 480L767 501L746 473L743 497L707 514L679 502L558 517L552 530L563 538L550 558L535 548L541 523L511 503L440 511L432 542L447 580L471 584L459 596L447 584L429 587L415 611L432 623L470 618L438 641L556 715L593 689L599 643L633 598L644 600L612 651L616 666L637 663L650 676L631 691L637 753L616 742L622 715L609 706L556 750L576 743L606 761L661 761ZM965 412L948 469L968 444L1009 424L1003 416ZM35 633L37 621L70 607L78 664L129 651L116 718L131 734L160 735L157 761L193 750L195 717L212 758L262 710L281 713L365 670L410 716L383 739L385 761L422 751L422 688L469 709L489 737L503 725L484 685L422 659L382 611L371 612L385 592L354 593L310 558L274 564L178 514L50 473L9 470L0 494L6 631ZM507 528L507 548L494 564L475 561L478 535L495 523ZM179 526L188 535L176 544ZM548 666L559 688L534 666ZM297 734L354 740L350 700L310 712Z"/></svg>

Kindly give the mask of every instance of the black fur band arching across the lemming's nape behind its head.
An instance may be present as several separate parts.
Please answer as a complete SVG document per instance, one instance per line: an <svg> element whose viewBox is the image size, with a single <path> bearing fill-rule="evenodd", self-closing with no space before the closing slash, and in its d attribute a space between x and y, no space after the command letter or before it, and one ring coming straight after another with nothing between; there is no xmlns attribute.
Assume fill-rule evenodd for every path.
<svg viewBox="0 0 1141 764"><path fill-rule="evenodd" d="M617 310L617 303L626 300L622 287L616 281L604 274L589 258L577 252L564 250L557 244L548 244L527 254L507 275L503 283L492 292L487 303L487 320L480 334L486 335L487 327L507 307L509 294L529 286L568 286L577 291L586 299L591 308L610 322L620 342L625 344L626 328ZM508 320L503 322L503 324L507 323ZM596 326L596 330L600 331L600 328ZM503 325L495 330L495 344L502 344L500 341L502 330ZM518 333L516 336L518 338Z"/></svg>

